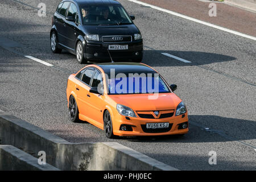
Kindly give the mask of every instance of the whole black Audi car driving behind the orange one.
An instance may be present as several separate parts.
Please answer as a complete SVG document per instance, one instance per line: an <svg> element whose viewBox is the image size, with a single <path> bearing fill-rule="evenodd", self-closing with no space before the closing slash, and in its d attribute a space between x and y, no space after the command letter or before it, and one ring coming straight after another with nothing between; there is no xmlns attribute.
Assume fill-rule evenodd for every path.
<svg viewBox="0 0 256 182"><path fill-rule="evenodd" d="M111 59L141 62L143 40L134 19L118 1L64 0L52 18L52 52L66 49L81 64Z"/></svg>

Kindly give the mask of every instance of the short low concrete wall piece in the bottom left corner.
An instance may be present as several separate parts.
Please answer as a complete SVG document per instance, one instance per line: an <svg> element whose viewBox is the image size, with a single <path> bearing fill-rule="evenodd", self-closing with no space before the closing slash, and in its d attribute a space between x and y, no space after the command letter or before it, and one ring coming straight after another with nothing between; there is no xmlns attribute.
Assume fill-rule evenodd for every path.
<svg viewBox="0 0 256 182"><path fill-rule="evenodd" d="M59 171L49 164L38 164L34 156L13 146L0 145L0 170Z"/></svg>

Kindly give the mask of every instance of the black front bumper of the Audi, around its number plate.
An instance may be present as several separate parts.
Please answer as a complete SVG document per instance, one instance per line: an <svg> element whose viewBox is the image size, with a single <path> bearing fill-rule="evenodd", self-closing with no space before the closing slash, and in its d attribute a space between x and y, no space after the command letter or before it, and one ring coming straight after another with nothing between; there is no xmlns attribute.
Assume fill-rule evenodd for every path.
<svg viewBox="0 0 256 182"><path fill-rule="evenodd" d="M133 40L127 43L103 43L86 41L84 45L84 57L93 61L111 61L109 45L128 45L127 50L109 50L113 61L139 61L143 58L143 40ZM135 54L137 52L137 55Z"/></svg>

